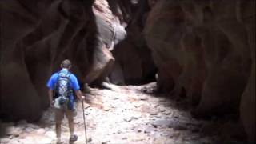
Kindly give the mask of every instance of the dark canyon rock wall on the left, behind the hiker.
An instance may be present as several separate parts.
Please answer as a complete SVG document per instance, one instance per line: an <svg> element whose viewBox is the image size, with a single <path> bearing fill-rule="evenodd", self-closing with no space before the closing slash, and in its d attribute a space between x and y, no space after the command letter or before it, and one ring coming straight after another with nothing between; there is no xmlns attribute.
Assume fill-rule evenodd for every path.
<svg viewBox="0 0 256 144"><path fill-rule="evenodd" d="M73 62L71 71L80 82L107 75L113 58L98 36L93 2L0 2L2 117L38 119L49 105L46 82L64 58ZM86 77L95 66L97 75Z"/></svg>

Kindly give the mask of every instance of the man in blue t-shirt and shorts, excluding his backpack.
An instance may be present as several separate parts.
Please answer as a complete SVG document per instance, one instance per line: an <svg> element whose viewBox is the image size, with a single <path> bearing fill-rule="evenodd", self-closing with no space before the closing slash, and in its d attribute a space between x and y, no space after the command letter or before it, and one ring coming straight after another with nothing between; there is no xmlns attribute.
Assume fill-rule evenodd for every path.
<svg viewBox="0 0 256 144"><path fill-rule="evenodd" d="M53 74L50 77L50 80L47 82L47 87L49 88L49 100L50 106L54 106L55 96L54 90L56 89L56 85L58 83L58 74L69 74L70 80L70 88L75 92L76 96L80 100L84 100L84 96L82 96L82 92L80 90L80 86L78 85L78 79L74 76L74 74L70 73L71 62L70 60L66 59L61 64L62 70L58 73ZM64 114L66 114L66 118L69 121L70 127L70 141L78 140L78 136L74 134L74 94L69 93L67 96L68 103L66 108L64 109L57 109L55 108L55 121L56 121L56 135L57 135L57 143L61 143L61 134L62 134L62 119L64 118ZM57 99L57 98L56 98Z"/></svg>

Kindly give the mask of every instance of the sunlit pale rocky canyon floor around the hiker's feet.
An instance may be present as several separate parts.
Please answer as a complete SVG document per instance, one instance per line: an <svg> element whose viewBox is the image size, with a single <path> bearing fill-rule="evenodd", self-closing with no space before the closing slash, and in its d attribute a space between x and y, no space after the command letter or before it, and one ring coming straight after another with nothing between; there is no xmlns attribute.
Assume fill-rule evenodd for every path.
<svg viewBox="0 0 256 144"><path fill-rule="evenodd" d="M145 86L114 86L112 90L90 89L86 104L89 143L214 143L214 137L201 134L206 123L191 118L182 102L174 102L152 92L155 83ZM147 92L147 93L145 93ZM75 118L78 142L85 143L82 106ZM37 124L25 121L9 126L1 143L55 143L54 114L47 110ZM68 142L68 124L62 125L62 140Z"/></svg>

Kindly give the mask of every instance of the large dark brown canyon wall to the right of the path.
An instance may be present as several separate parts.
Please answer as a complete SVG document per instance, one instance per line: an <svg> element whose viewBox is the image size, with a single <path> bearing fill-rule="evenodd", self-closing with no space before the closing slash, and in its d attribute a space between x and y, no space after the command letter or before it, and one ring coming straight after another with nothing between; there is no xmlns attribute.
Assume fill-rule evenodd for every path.
<svg viewBox="0 0 256 144"><path fill-rule="evenodd" d="M238 112L242 98L242 120L255 138L255 1L159 0L144 33L160 90L185 89L198 116Z"/></svg>

